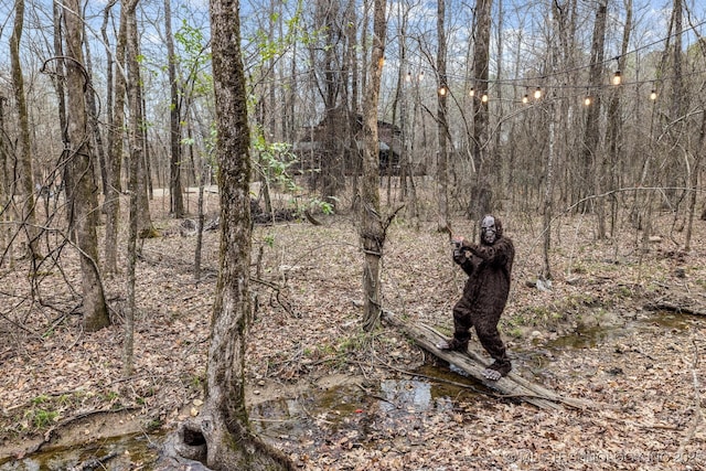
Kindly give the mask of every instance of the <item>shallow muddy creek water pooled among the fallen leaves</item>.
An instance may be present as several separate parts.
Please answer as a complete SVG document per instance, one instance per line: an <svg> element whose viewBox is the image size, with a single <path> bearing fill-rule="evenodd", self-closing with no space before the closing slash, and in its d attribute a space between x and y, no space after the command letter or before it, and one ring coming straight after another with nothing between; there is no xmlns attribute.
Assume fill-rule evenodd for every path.
<svg viewBox="0 0 706 471"><path fill-rule="evenodd" d="M648 330L684 331L706 320L672 313L634 317L620 324L578 329L558 336L546 349L586 349ZM523 356L523 352L517 352ZM458 402L482 394L481 386L446 365L426 365L408 379L383 379L363 385L312 390L296 398L269 400L250 408L253 428L278 442L296 441L303 450L321 450L335 443L364 446L383 429L411 432L424 427L427 415L452 410ZM434 378L434 379L432 379ZM94 468L110 471L151 470L163 437L135 435L99 443L54 449L22 460L0 459L0 471L53 471L101 460Z"/></svg>

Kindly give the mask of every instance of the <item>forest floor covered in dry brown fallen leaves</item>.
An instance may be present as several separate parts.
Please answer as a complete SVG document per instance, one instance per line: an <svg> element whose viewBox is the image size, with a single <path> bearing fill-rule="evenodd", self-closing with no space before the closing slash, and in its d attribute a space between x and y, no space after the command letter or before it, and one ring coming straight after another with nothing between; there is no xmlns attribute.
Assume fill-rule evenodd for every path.
<svg viewBox="0 0 706 471"><path fill-rule="evenodd" d="M114 325L86 333L69 247L61 265L47 261L34 277L26 261L2 266L0 463L38 447L158 433L199 414L218 236L205 233L195 282L196 238L183 222L156 214L160 236L143 240L138 264L130 377L121 360L124 278L105 280ZM396 329L363 333L363 257L354 218L338 215L322 216L321 226L255 227L258 307L246 358L255 428L311 471L706 469L706 318L648 309L661 300L706 304L706 223L694 223L685 253L684 232L673 232L668 214L655 221L659 237L648 244L627 222L597 240L592 217L557 218L546 287L536 283L541 217L500 216L517 250L501 321L514 372L597 407L545 410L479 394L482 386L450 373ZM464 218L452 223L458 234L475 232ZM383 264L386 309L450 332L463 281L436 222L393 222ZM471 349L486 356L477 342ZM432 389L425 402L404 390L385 395L386 381L411 394L420 384L458 387L451 395ZM322 404L330 390L359 393ZM277 402L296 417L268 415L265 406ZM284 425L288 431L276 427Z"/></svg>

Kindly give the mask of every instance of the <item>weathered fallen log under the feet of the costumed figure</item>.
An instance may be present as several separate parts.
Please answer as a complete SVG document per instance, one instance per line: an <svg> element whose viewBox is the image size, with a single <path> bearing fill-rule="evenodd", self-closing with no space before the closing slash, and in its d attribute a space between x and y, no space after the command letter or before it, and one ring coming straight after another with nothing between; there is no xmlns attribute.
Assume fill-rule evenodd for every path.
<svg viewBox="0 0 706 471"><path fill-rule="evenodd" d="M563 406L580 409L597 407L592 402L561 396L512 372L499 381L489 381L482 374L488 363L475 352L469 350L468 354L464 354L437 349L436 345L445 336L434 328L424 323L405 322L391 311L383 311L383 320L411 336L419 346L429 353L454 364L488 388L500 393L499 397L523 400L542 409L560 409Z"/></svg>

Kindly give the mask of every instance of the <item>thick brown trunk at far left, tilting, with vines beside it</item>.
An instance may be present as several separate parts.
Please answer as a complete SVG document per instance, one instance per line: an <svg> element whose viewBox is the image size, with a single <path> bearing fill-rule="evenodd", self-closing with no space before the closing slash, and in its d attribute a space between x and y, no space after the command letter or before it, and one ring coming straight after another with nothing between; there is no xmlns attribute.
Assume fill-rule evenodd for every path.
<svg viewBox="0 0 706 471"><path fill-rule="evenodd" d="M98 270L98 237L96 235L96 201L89 125L84 90L88 75L83 57L83 18L78 0L64 3L66 25L66 84L68 105L68 173L72 186L66 190L71 223L79 248L83 285L84 329L93 332L110 324L103 282Z"/></svg>

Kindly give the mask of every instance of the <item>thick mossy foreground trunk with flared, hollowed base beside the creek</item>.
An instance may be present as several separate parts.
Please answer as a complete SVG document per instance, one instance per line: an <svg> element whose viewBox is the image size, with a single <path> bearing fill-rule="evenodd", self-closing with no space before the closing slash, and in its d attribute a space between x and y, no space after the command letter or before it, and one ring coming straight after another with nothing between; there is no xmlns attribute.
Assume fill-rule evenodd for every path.
<svg viewBox="0 0 706 471"><path fill-rule="evenodd" d="M245 407L245 336L253 321L250 156L239 3L211 0L216 158L220 165L221 259L211 322L206 404L193 427L214 470L293 470L289 459L253 435Z"/></svg>

